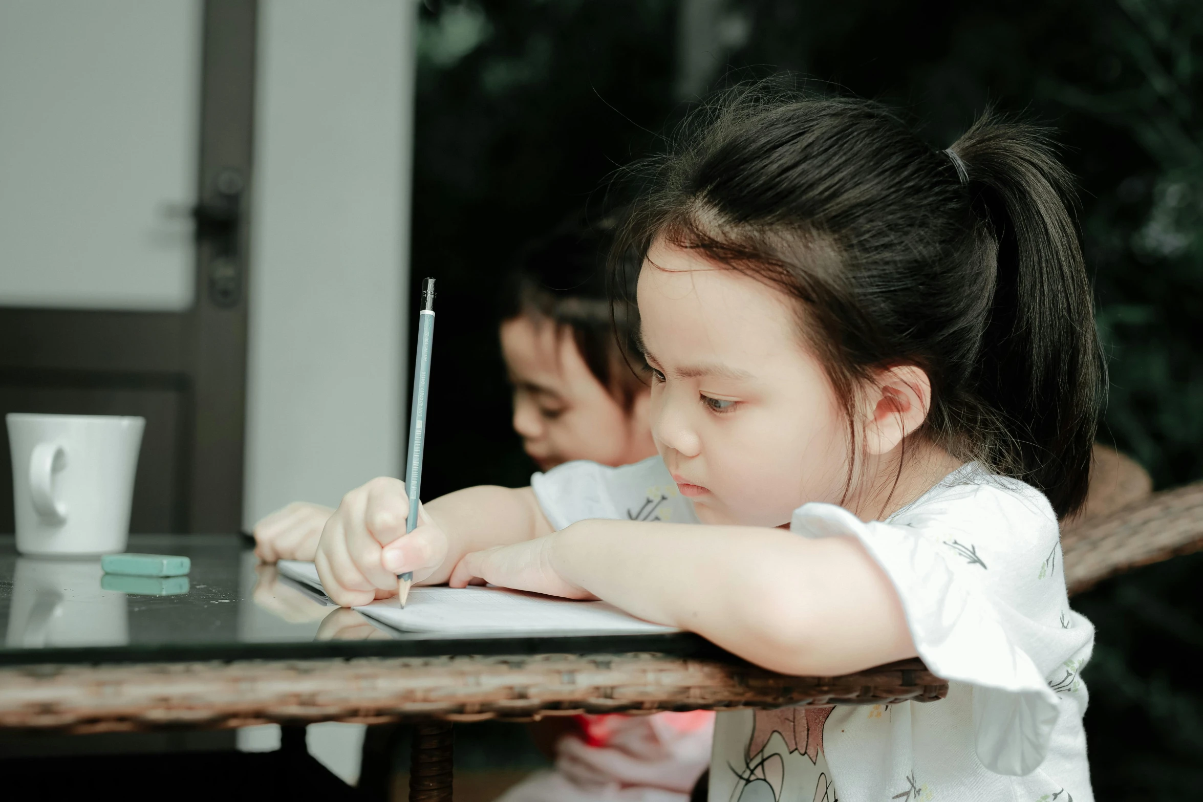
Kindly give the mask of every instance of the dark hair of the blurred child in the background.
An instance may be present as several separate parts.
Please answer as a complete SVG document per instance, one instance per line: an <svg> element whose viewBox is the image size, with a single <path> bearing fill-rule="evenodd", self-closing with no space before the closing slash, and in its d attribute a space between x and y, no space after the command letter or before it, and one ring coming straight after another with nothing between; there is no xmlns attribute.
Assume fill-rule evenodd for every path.
<svg viewBox="0 0 1203 802"><path fill-rule="evenodd" d="M628 366L635 315L610 303L606 257L622 213L593 222L574 216L518 254L502 295L502 320L527 315L571 332L589 372L630 410L646 385ZM635 280L634 271L624 274ZM633 289L632 289L633 291Z"/></svg>

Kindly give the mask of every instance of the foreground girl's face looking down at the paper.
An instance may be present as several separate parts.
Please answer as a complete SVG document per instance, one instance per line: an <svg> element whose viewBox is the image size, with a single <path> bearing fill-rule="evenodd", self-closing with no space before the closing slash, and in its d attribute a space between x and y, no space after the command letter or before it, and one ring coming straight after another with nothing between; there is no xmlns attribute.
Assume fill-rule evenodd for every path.
<svg viewBox="0 0 1203 802"><path fill-rule="evenodd" d="M789 299L657 243L639 314L652 438L704 523L777 527L841 500L847 422Z"/></svg>

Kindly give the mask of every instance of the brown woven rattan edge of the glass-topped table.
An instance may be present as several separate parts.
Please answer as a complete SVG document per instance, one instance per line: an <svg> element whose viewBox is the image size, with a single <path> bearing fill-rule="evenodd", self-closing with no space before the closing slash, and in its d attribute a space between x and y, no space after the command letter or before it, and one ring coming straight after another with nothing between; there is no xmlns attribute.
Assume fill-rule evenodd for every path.
<svg viewBox="0 0 1203 802"><path fill-rule="evenodd" d="M948 691L918 660L788 677L656 654L43 665L0 670L0 726L76 732L884 705Z"/></svg>

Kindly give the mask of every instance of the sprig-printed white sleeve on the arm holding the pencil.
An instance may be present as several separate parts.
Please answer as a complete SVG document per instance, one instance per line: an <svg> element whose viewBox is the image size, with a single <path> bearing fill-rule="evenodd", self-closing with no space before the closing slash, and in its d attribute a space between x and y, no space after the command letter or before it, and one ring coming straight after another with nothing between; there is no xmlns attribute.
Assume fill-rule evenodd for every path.
<svg viewBox="0 0 1203 802"><path fill-rule="evenodd" d="M531 489L557 530L587 518L698 522L659 457L618 468L568 462L534 474Z"/></svg>

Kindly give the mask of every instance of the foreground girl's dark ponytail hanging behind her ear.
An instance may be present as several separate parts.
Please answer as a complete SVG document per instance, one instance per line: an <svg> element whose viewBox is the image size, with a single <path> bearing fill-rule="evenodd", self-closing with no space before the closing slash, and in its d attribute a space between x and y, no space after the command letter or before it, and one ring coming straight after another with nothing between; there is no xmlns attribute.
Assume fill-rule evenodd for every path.
<svg viewBox="0 0 1203 802"><path fill-rule="evenodd" d="M1086 498L1104 363L1071 209L1068 171L1042 129L989 113L949 148L996 250L977 396L1009 436L990 455L1059 517Z"/></svg>

